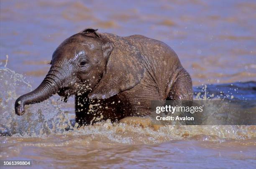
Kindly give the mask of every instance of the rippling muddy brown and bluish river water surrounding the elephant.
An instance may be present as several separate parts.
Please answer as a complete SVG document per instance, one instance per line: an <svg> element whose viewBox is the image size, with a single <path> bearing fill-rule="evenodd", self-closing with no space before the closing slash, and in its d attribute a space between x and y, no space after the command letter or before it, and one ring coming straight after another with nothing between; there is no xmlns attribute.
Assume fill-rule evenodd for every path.
<svg viewBox="0 0 256 169"><path fill-rule="evenodd" d="M256 100L253 0L1 0L1 160L33 160L36 168L256 167L256 126L154 130L102 121L76 129L74 100L59 96L16 116L15 99L41 83L56 47L88 27L164 41L192 76L195 99Z"/></svg>

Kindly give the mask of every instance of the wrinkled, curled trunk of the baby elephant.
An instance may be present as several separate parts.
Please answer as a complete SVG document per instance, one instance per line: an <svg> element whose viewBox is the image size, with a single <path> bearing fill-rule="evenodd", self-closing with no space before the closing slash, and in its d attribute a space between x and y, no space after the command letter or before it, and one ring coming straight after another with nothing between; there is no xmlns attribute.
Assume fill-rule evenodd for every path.
<svg viewBox="0 0 256 169"><path fill-rule="evenodd" d="M60 72L58 68L52 67L42 83L34 91L20 96L15 101L15 114L21 116L25 113L25 105L39 103L57 93L62 81L62 73Z"/></svg>

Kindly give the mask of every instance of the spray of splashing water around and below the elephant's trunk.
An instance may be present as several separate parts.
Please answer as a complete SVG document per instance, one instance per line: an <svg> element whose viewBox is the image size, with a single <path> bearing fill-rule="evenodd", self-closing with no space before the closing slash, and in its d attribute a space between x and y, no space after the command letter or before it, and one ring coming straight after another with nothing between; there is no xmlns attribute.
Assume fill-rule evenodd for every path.
<svg viewBox="0 0 256 169"><path fill-rule="evenodd" d="M14 103L20 93L32 91L30 83L26 79L9 68L0 68L0 133L2 135L35 136L51 133L59 133L70 128L67 115L60 110L58 105L52 102L56 98L50 98L42 103L26 106L26 115L17 116L14 111Z"/></svg>

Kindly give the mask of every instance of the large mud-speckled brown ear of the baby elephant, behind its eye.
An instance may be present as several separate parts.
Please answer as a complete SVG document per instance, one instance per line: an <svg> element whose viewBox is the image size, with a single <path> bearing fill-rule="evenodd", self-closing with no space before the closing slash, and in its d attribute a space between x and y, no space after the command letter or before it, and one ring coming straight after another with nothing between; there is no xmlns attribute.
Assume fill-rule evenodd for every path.
<svg viewBox="0 0 256 169"><path fill-rule="evenodd" d="M143 78L141 53L130 43L120 42L114 47L99 83L89 98L110 98L136 86Z"/></svg>

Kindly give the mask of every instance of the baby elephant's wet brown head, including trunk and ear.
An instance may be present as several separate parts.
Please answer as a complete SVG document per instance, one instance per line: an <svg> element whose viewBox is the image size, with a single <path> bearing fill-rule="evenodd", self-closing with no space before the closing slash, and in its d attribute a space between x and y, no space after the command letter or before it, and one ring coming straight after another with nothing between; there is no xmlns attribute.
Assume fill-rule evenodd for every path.
<svg viewBox="0 0 256 169"><path fill-rule="evenodd" d="M39 103L55 93L68 98L87 92L89 98L105 99L141 81L140 53L121 38L96 31L85 29L59 45L42 83L15 101L15 114L23 115L25 105Z"/></svg>

